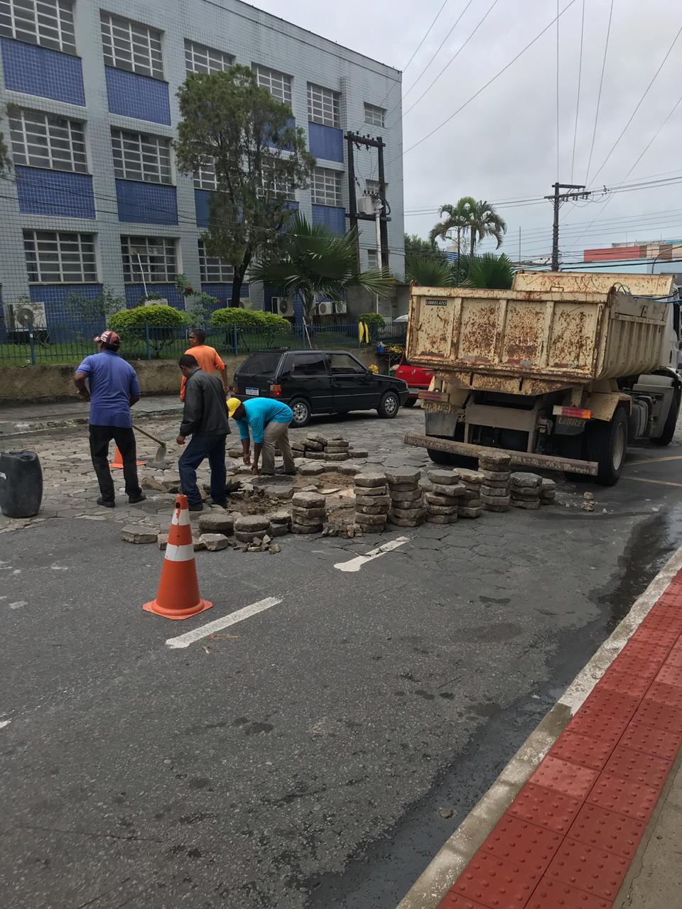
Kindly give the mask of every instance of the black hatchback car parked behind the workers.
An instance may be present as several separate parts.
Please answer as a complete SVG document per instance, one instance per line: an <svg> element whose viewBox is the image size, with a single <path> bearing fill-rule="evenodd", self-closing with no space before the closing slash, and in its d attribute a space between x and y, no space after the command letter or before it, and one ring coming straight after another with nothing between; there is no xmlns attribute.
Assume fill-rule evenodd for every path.
<svg viewBox="0 0 682 909"><path fill-rule="evenodd" d="M370 373L345 350L263 350L246 358L235 374L237 397L276 397L294 411L292 425L315 414L376 410L396 416L407 399L402 379Z"/></svg>

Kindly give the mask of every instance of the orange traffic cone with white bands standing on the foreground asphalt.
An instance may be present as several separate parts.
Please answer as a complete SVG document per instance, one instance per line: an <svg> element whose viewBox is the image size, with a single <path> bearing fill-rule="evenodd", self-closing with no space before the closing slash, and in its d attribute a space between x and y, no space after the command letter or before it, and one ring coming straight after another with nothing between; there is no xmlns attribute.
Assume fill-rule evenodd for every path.
<svg viewBox="0 0 682 909"><path fill-rule="evenodd" d="M178 495L156 599L145 603L142 608L166 619L188 619L190 615L203 613L212 605L199 596L187 496Z"/></svg>

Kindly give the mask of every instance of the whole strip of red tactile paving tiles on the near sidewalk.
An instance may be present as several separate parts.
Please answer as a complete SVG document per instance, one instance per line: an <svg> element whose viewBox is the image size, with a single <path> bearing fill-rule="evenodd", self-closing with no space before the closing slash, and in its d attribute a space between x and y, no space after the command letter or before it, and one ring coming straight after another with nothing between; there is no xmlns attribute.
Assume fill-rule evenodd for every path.
<svg viewBox="0 0 682 909"><path fill-rule="evenodd" d="M612 909L682 746L682 572L439 909Z"/></svg>

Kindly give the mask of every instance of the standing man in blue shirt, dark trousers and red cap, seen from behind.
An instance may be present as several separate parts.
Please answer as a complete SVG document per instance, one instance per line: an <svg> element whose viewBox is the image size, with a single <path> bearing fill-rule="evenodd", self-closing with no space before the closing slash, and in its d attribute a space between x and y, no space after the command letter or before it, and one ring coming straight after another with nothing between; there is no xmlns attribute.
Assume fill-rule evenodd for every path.
<svg viewBox="0 0 682 909"><path fill-rule="evenodd" d="M145 501L137 478L137 451L130 408L140 400L140 384L133 367L118 355L121 339L105 331L95 338L97 354L86 356L74 375L75 387L90 402L90 456L100 497L98 505L113 508L114 481L109 469L113 439L123 458L125 494L130 504Z"/></svg>

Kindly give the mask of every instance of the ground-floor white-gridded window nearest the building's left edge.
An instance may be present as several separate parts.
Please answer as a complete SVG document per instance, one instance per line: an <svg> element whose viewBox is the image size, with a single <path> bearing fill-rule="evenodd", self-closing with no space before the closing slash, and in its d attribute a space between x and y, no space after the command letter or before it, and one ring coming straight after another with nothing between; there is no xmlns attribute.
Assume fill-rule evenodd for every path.
<svg viewBox="0 0 682 909"><path fill-rule="evenodd" d="M28 280L33 284L84 284L97 280L94 234L25 230Z"/></svg>

